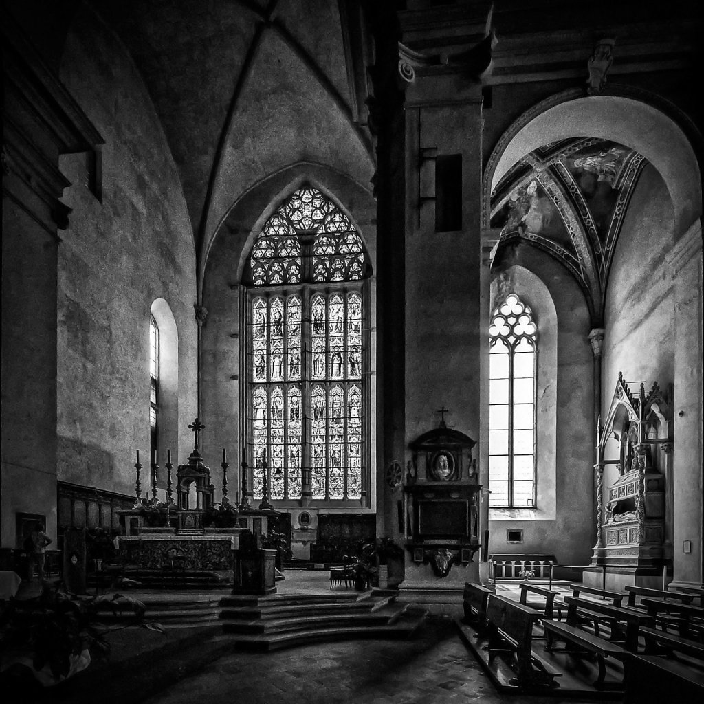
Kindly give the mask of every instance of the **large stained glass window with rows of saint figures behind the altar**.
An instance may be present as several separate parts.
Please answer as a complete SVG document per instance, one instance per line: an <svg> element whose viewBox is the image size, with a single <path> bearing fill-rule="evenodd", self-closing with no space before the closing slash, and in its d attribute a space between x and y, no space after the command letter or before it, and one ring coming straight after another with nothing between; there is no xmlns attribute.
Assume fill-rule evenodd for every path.
<svg viewBox="0 0 704 704"><path fill-rule="evenodd" d="M249 258L248 443L253 490L319 501L365 490L367 260L348 216L296 191L265 222ZM306 475L309 477L306 482Z"/></svg>

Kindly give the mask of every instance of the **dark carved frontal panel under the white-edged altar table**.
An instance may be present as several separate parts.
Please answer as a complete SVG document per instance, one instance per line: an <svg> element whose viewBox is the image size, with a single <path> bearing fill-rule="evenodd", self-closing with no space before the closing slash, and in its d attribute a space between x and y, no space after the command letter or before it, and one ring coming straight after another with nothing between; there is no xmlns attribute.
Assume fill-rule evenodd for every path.
<svg viewBox="0 0 704 704"><path fill-rule="evenodd" d="M234 569L239 531L225 535L151 534L118 538L120 553L143 570Z"/></svg>

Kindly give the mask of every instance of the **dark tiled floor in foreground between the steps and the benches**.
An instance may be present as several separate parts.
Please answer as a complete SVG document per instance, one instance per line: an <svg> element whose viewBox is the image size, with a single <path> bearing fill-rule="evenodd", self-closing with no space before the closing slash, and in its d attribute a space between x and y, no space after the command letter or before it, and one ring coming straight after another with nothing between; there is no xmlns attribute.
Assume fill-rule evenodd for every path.
<svg viewBox="0 0 704 704"><path fill-rule="evenodd" d="M225 655L147 704L540 704L496 693L448 618L412 641L322 643ZM559 700L550 699L553 704Z"/></svg>

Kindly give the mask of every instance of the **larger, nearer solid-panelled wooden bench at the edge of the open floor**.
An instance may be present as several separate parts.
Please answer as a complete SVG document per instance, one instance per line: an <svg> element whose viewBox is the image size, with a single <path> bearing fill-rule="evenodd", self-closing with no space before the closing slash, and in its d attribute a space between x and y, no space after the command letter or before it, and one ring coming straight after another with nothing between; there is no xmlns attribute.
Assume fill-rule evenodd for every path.
<svg viewBox="0 0 704 704"><path fill-rule="evenodd" d="M515 657L517 677L511 684L518 686L555 686L559 672L551 672L532 650L533 627L541 612L517 603L505 596L489 596L486 618L489 627L489 663L496 653L509 652Z"/></svg>

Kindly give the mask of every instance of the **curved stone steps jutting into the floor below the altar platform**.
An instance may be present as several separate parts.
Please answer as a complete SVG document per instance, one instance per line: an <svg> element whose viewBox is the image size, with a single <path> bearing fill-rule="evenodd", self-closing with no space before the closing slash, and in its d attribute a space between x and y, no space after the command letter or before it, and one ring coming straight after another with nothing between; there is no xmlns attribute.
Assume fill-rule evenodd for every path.
<svg viewBox="0 0 704 704"><path fill-rule="evenodd" d="M425 610L393 603L394 594L225 597L222 629L237 650L269 652L320 641L405 639Z"/></svg>

